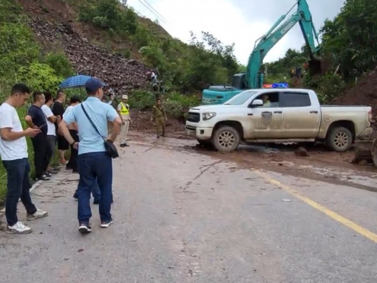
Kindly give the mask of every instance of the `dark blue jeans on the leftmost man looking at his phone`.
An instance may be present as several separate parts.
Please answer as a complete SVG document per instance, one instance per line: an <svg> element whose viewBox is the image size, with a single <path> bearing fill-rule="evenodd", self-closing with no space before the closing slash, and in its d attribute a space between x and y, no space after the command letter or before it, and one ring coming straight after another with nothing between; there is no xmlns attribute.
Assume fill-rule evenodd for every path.
<svg viewBox="0 0 377 283"><path fill-rule="evenodd" d="M9 226L17 223L17 203L21 198L21 202L29 214L34 214L37 209L32 203L30 197L29 173L30 165L28 158L16 160L3 160L4 167L7 171L7 199L5 201L5 216Z"/></svg>

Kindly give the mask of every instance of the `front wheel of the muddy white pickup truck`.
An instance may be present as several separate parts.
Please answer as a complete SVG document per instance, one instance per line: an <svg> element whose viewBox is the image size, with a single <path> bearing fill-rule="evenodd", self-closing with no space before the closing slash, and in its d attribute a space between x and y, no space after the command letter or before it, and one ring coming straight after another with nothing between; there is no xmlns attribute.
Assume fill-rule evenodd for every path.
<svg viewBox="0 0 377 283"><path fill-rule="evenodd" d="M238 147L239 133L230 126L222 126L212 136L212 144L218 151L231 152Z"/></svg>

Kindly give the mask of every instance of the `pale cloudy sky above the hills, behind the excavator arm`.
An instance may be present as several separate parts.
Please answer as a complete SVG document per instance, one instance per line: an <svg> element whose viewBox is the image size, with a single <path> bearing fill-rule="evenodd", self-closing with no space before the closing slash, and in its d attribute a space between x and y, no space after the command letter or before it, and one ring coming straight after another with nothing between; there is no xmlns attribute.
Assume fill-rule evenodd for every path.
<svg viewBox="0 0 377 283"><path fill-rule="evenodd" d="M297 0L128 0L127 4L152 20L157 18L154 15L157 14L157 19L165 30L184 42L190 39L190 31L198 35L201 31L209 32L226 44L234 42L238 61L246 65L255 40L267 32L296 2ZM333 19L339 13L344 0L307 2L318 31L326 18ZM165 18L165 22L162 18ZM303 44L304 39L297 24L270 50L264 62L275 61L283 57L288 48L299 49Z"/></svg>

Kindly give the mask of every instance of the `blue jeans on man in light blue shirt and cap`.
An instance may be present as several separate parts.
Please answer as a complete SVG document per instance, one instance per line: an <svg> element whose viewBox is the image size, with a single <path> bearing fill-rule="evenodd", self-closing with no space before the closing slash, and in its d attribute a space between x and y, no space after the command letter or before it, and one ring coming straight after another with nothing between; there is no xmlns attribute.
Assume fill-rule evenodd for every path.
<svg viewBox="0 0 377 283"><path fill-rule="evenodd" d="M111 219L111 201L113 199L113 161L105 152L91 152L77 156L78 181L77 218L79 224L88 224L92 211L90 209L90 192L96 183L100 190L99 216L101 221Z"/></svg>

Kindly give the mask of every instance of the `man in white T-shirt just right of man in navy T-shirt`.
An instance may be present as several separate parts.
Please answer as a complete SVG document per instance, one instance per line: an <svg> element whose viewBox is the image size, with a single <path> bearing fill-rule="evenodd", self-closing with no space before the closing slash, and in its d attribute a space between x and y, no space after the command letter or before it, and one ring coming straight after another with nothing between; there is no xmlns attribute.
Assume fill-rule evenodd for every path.
<svg viewBox="0 0 377 283"><path fill-rule="evenodd" d="M58 171L51 167L51 160L53 158L53 154L55 153L55 146L56 146L56 117L52 114L51 105L52 105L52 95L50 92L44 93L45 102L42 105L41 109L43 111L44 116L47 119L47 158L48 158L48 167L47 173L49 174L57 174Z"/></svg>

